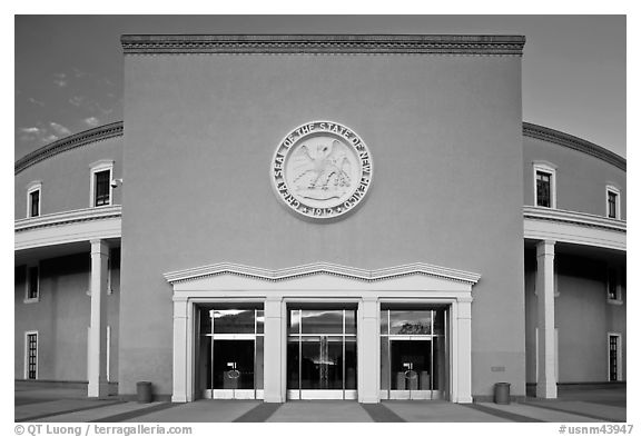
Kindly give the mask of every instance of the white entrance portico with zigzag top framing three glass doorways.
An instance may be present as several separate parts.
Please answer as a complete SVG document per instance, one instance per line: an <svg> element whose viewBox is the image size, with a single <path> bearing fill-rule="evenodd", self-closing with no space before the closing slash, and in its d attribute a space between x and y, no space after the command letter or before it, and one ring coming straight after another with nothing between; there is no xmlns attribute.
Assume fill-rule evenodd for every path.
<svg viewBox="0 0 641 437"><path fill-rule="evenodd" d="M471 403L472 286L480 276L425 264L363 270L331 264L267 270L233 264L166 274L174 287L172 401L198 398L195 309L198 306L260 305L264 308L264 399L287 399L288 309L348 305L356 308L359 403L381 399L381 305L438 305L450 311L451 384L446 397Z"/></svg>

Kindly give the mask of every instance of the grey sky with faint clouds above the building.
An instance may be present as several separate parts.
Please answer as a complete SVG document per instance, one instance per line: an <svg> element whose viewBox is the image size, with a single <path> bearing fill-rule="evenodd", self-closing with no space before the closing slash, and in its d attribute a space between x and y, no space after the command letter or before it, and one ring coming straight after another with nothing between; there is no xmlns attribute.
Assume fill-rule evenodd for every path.
<svg viewBox="0 0 641 437"><path fill-rule="evenodd" d="M625 157L625 16L16 16L14 159L124 119L124 33L524 34L523 120Z"/></svg>

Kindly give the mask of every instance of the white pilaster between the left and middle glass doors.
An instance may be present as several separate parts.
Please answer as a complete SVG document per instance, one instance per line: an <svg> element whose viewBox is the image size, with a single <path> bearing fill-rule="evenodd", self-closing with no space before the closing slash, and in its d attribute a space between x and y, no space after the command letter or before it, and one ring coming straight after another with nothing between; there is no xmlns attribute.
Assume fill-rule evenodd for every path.
<svg viewBox="0 0 641 437"><path fill-rule="evenodd" d="M286 398L285 308L282 297L265 299L264 393L266 403Z"/></svg>

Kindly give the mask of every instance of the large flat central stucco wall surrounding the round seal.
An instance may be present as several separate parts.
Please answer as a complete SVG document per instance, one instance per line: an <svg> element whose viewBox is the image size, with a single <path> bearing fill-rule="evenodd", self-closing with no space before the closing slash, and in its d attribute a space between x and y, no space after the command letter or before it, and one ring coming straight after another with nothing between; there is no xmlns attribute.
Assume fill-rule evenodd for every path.
<svg viewBox="0 0 641 437"><path fill-rule="evenodd" d="M335 224L298 219L269 182L278 141L318 119L374 159L365 203ZM519 57L127 56L125 125L121 394L171 393L162 272L219 261L480 272L473 393L524 394Z"/></svg>

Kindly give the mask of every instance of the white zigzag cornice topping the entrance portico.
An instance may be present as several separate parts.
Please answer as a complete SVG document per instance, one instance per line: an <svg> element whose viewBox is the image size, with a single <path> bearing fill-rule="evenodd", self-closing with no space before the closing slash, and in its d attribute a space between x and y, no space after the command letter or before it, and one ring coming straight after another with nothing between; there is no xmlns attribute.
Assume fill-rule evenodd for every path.
<svg viewBox="0 0 641 437"><path fill-rule="evenodd" d="M220 262L211 266L167 272L164 276L169 284L177 284L226 274L263 279L268 281L296 279L312 275L332 275L355 279L359 281L372 282L410 275L426 275L474 285L481 278L481 275L477 274L463 270L448 269L445 267L432 266L423 262L389 267L377 270L364 270L355 267L346 267L331 262L308 264L304 266L296 266L277 270L243 266L233 262Z"/></svg>

